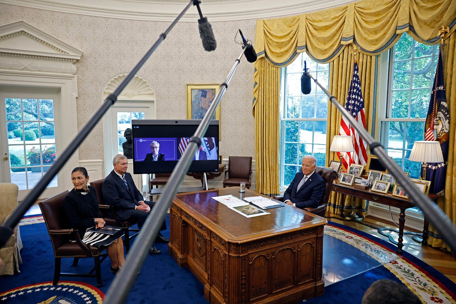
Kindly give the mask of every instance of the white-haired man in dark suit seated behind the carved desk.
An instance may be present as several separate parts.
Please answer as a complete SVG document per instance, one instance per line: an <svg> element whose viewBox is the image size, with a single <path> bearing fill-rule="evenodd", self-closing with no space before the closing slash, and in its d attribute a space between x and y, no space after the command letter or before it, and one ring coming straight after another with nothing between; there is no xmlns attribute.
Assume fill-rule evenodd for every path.
<svg viewBox="0 0 456 304"><path fill-rule="evenodd" d="M316 208L325 190L325 181L315 172L316 159L306 155L302 159L301 172L296 173L284 193L284 202L300 209Z"/></svg>

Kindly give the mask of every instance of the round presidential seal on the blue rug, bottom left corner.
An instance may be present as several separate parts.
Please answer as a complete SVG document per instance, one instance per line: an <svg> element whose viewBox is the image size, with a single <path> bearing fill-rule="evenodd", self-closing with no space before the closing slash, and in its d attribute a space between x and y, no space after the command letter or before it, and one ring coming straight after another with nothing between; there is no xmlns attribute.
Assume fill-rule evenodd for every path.
<svg viewBox="0 0 456 304"><path fill-rule="evenodd" d="M96 304L104 294L97 288L80 282L60 281L31 284L0 294L0 303L34 304Z"/></svg>

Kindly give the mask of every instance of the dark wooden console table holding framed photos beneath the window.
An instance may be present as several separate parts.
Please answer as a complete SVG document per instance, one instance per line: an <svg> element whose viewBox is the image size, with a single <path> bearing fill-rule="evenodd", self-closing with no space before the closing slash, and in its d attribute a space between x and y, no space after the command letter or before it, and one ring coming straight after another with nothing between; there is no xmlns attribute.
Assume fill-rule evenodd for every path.
<svg viewBox="0 0 456 304"><path fill-rule="evenodd" d="M398 249L396 250L397 253L401 254L403 252L402 247L403 244L403 237L404 237L404 224L405 224L405 209L416 207L413 201L409 199L404 199L399 196L393 196L392 194L383 194L376 191L370 190L361 190L357 188L353 188L352 186L342 185L339 184L338 180L334 180L332 183L332 191L336 191L343 194L342 197L342 206L340 208L340 216L344 217L344 204L345 204L345 196L355 196L359 197L368 201L374 201L383 205L392 206L399 208L399 238L398 238ZM431 200L436 200L439 197L436 194L429 194L428 195ZM429 222L425 218L425 225L423 227L423 241L421 244L423 246L427 245L427 229L429 227Z"/></svg>

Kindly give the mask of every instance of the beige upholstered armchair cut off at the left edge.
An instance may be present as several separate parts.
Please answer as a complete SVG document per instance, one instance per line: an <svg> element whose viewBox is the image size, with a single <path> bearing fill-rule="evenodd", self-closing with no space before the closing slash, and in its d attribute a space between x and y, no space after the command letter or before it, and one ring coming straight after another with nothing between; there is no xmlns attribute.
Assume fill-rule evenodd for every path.
<svg viewBox="0 0 456 304"><path fill-rule="evenodd" d="M0 183L0 225L3 225L6 218L11 215L17 207L17 194L19 188L15 184ZM0 275L14 274L14 270L19 271L19 264L22 264L21 252L22 241L19 234L19 227L16 227L5 246L0 248L0 258L3 265L0 266Z"/></svg>

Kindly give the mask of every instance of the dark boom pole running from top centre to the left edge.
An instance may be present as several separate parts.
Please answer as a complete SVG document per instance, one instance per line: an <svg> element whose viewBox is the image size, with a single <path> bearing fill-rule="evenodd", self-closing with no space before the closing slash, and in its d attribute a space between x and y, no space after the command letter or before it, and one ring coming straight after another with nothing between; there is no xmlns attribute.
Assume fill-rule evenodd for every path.
<svg viewBox="0 0 456 304"><path fill-rule="evenodd" d="M160 45L160 43L165 40L166 35L169 31L176 25L177 21L181 19L184 13L190 8L190 6L194 5L194 1L190 0L187 6L182 10L182 12L176 17L176 19L171 23L170 26L166 29L164 33L160 34L160 37L155 41L154 45L150 47L149 51L140 59L135 67L131 70L131 72L125 77L124 81L119 84L119 87L114 91L114 93L110 94L106 101L103 103L101 108L89 119L88 123L84 126L84 128L79 132L75 139L68 145L67 149L65 149L57 158L57 161L51 168L47 171L47 173L41 178L40 182L36 184L34 189L30 192L29 195L26 196L25 200L16 207L16 209L11 213L11 216L0 226L0 247L3 247L5 243L8 241L10 236L13 233L14 227L19 223L22 216L27 212L27 210L35 203L41 193L46 189L47 185L51 182L55 175L62 169L63 165L70 159L71 155L73 155L74 151L78 149L79 145L86 139L87 135L92 131L95 125L98 123L99 120L102 119L104 113L108 111L112 104L117 101L117 97L119 94L124 90L130 80L135 77L136 72L140 70L140 68L144 65L144 63L149 59L155 49Z"/></svg>

